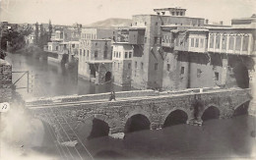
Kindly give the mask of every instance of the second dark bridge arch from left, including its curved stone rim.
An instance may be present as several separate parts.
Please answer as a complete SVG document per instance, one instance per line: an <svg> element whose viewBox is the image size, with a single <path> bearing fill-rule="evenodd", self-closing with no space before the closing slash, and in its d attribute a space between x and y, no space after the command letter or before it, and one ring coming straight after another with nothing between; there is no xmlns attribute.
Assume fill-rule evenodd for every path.
<svg viewBox="0 0 256 160"><path fill-rule="evenodd" d="M124 133L150 130L152 121L150 114L143 110L134 110L125 117Z"/></svg>

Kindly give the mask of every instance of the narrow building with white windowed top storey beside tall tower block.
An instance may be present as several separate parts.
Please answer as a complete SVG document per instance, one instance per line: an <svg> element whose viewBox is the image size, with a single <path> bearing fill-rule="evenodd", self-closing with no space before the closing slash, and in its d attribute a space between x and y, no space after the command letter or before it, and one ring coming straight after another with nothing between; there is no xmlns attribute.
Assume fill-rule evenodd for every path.
<svg viewBox="0 0 256 160"><path fill-rule="evenodd" d="M121 86L131 86L133 47L128 42L113 43L113 82ZM143 68L143 64L141 66Z"/></svg>

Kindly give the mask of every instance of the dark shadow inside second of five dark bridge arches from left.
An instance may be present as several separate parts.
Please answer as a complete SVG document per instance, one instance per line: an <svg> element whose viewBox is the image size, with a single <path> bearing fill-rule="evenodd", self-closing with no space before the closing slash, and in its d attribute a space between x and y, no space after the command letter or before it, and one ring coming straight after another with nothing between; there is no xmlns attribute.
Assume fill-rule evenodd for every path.
<svg viewBox="0 0 256 160"><path fill-rule="evenodd" d="M151 122L145 115L135 114L128 118L124 127L124 133L133 133L143 130L150 130Z"/></svg>

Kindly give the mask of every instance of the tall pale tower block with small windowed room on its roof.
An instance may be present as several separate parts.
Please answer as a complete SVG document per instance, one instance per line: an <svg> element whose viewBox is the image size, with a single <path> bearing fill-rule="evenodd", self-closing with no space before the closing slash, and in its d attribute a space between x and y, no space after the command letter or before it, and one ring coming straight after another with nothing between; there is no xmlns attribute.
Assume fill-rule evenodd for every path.
<svg viewBox="0 0 256 160"><path fill-rule="evenodd" d="M157 15L133 16L129 43L134 46L133 66L143 63L145 68L133 68L132 86L156 88L162 86L164 57L161 52L161 27L203 27L204 19L185 17L185 9L156 9ZM167 14L169 16L167 16ZM175 32L175 30L174 30Z"/></svg>

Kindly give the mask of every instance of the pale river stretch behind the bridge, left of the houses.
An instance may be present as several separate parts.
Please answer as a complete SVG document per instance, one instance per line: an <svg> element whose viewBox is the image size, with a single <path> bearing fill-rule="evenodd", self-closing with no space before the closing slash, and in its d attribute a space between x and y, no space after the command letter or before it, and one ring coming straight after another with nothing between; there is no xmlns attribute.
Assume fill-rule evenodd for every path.
<svg viewBox="0 0 256 160"><path fill-rule="evenodd" d="M13 71L30 71L30 88L28 94L26 89L19 89L25 98L72 95L72 94L94 94L110 92L113 90L130 90L131 88L120 87L113 84L94 84L88 80L78 78L77 69L66 69L64 65L47 62L23 55L8 55L6 60L13 65ZM13 80L18 80L21 75L14 74ZM27 86L27 79L23 78L17 82L17 86Z"/></svg>

